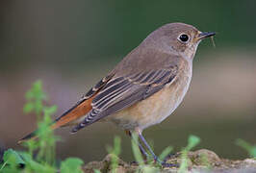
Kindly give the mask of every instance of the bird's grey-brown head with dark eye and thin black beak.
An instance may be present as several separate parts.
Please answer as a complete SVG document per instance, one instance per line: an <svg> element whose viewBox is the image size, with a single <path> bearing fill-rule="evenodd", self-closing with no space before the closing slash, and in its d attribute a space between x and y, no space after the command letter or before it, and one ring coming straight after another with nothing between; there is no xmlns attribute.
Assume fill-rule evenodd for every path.
<svg viewBox="0 0 256 173"><path fill-rule="evenodd" d="M200 32L192 25L169 23L154 31L144 42L162 51L182 55L192 60L199 42L215 35L214 32Z"/></svg>

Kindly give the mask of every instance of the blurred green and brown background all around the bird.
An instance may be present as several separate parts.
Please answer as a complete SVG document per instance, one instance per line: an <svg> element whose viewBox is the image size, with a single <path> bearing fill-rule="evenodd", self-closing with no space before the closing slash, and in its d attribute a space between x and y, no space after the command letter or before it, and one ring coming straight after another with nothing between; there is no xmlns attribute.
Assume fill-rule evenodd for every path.
<svg viewBox="0 0 256 173"><path fill-rule="evenodd" d="M202 139L198 148L245 158L234 141L256 143L255 8L254 0L1 1L0 145L21 149L16 140L36 128L36 116L22 113L34 81L43 81L60 115L148 34L184 22L217 32L217 47L210 39L201 43L184 102L145 136L157 154L167 145L179 151L192 134ZM57 131L64 140L60 159L101 160L106 145L121 136L121 158L133 161L130 138L112 124L96 123L76 136L69 130Z"/></svg>

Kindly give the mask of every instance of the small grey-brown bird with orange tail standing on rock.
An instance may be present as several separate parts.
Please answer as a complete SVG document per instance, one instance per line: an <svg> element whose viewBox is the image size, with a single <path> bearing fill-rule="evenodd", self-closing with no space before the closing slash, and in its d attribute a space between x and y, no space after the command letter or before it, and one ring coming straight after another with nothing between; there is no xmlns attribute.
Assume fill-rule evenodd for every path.
<svg viewBox="0 0 256 173"><path fill-rule="evenodd" d="M154 160L160 161L142 131L161 123L180 105L192 80L197 46L203 38L215 35L184 23L160 27L91 87L74 107L58 117L51 128L74 125L72 133L76 133L99 120L111 121L128 135L137 134ZM140 141L138 145L148 157Z"/></svg>

